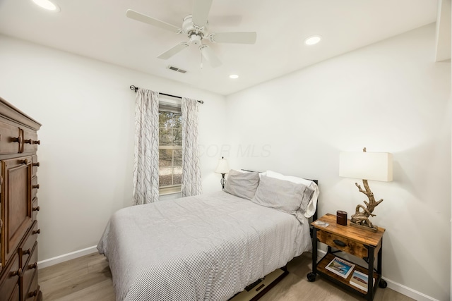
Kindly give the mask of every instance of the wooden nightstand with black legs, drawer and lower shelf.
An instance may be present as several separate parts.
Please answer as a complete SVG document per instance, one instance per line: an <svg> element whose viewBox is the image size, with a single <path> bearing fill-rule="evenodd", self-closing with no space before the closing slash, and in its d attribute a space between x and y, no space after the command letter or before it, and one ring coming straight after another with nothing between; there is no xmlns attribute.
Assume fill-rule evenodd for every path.
<svg viewBox="0 0 452 301"><path fill-rule="evenodd" d="M311 223L311 226L313 226L312 272L307 275L308 280L311 282L315 281L316 274L319 274L343 288L352 290L358 295L366 298L366 300L373 300L377 285L380 288L386 288L386 281L381 279L381 246L383 244L385 229L379 227L377 232L372 232L352 227L350 226L350 219L347 220L347 226L341 226L336 223L336 216L333 214L326 214L322 216L319 221L329 223L329 226L323 228L316 225L316 221ZM328 252L319 260L319 262L317 262L317 241L328 245ZM333 251L333 248L335 251ZM371 274L373 274L375 283L372 285L372 281L369 281L367 292L350 284L350 278L352 278L353 272L351 272L347 278L343 278L326 269L326 266L331 260L333 260L334 257L338 257L333 254L336 252L346 252L362 258L367 262L367 268L356 264L354 269L355 271L366 274L368 279L371 279ZM376 269L374 267L375 257L377 257ZM347 262L350 262L350 260L347 260ZM373 273L371 273L371 271L373 271Z"/></svg>

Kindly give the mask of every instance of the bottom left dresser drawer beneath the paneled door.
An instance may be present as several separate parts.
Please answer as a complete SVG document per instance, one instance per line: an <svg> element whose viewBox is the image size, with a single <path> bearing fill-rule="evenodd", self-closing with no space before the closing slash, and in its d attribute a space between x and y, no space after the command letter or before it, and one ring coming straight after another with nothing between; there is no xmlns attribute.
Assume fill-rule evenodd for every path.
<svg viewBox="0 0 452 301"><path fill-rule="evenodd" d="M19 300L19 278L22 269L19 269L18 255L11 257L8 266L0 278L0 301Z"/></svg>

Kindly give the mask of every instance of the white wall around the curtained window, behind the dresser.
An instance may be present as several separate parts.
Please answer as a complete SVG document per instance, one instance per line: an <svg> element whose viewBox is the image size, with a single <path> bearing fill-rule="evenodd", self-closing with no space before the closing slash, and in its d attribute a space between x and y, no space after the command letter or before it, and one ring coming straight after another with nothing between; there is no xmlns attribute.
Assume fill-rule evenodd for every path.
<svg viewBox="0 0 452 301"><path fill-rule="evenodd" d="M109 216L131 205L129 85L203 99L201 145L220 144L225 97L0 35L0 96L42 123L39 260L97 245ZM205 192L220 190L215 156L201 157Z"/></svg>

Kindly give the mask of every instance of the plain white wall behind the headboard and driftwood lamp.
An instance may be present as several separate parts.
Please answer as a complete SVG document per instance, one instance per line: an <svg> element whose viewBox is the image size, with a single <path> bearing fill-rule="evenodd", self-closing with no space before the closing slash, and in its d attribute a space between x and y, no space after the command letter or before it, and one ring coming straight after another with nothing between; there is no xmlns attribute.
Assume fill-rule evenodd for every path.
<svg viewBox="0 0 452 301"><path fill-rule="evenodd" d="M367 199L339 152L393 153L393 182L369 181L384 199L371 220L383 278L417 300L450 293L451 64L434 63L434 38L429 25L227 97L231 168L318 179L321 215Z"/></svg>

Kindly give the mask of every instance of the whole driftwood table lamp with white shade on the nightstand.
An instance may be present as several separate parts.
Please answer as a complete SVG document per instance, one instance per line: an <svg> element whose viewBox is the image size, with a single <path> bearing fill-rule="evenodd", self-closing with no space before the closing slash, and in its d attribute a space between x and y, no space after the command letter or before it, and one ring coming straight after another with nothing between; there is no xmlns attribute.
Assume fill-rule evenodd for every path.
<svg viewBox="0 0 452 301"><path fill-rule="evenodd" d="M362 204L357 205L355 214L351 216L350 225L367 228L371 231L377 231L378 227L369 221L375 207L383 199L375 201L374 193L369 188L367 180L379 180L390 182L393 180L393 155L387 152L341 152L339 159L339 176L345 178L360 178L364 185L364 190L358 183L355 183L359 192L364 193L369 198L369 202L364 201L367 207Z"/></svg>

